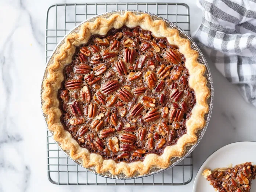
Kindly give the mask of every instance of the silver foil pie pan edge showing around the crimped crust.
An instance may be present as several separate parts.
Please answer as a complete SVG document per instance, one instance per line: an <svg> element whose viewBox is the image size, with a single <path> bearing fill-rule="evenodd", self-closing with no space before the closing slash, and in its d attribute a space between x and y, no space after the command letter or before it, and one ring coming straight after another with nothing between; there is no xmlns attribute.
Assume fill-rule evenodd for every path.
<svg viewBox="0 0 256 192"><path fill-rule="evenodd" d="M59 53L59 49L60 49L60 46L63 45L65 43L64 39L66 38L67 35L71 34L71 33L78 33L79 30L80 30L80 27L83 23L85 22L94 22L96 18L100 18L100 17L103 17L103 18L109 18L111 15L113 14L120 14L120 15L123 15L126 11L131 11L133 12L134 14L136 15L141 15L141 14L149 14L151 16L151 18L153 20L163 20L165 21L167 27L169 28L174 28L174 29L177 29L180 33L180 37L182 38L185 38L185 39L189 39L190 42L191 42L191 48L196 50L198 53L199 53L199 56L198 56L198 62L200 64L203 64L205 65L206 67L206 71L205 71L205 78L207 79L207 86L209 87L210 89L210 97L208 98L208 105L209 105L209 112L207 114L205 114L205 120L206 120L206 124L205 124L205 127L200 129L197 133L196 133L196 136L198 138L197 142L192 145L192 146L188 146L186 148L186 151L185 151L185 154L183 157L179 158L179 157L174 157L170 160L170 166L165 168L165 169L160 169L160 168L152 168L148 174L144 174L144 175L140 175L139 173L136 173L134 176L132 177L127 177L125 176L125 174L123 173L120 173L118 175L112 175L111 173L109 172L105 172L105 173L97 173L95 171L95 167L90 167L90 168L84 168L82 166L82 161L80 159L77 159L77 160L74 160L72 159L70 156L69 156L69 150L63 150L61 147L60 147L60 143L59 142L56 142L55 143L57 144L57 146L60 148L60 150L62 150L70 159L72 159L73 162L75 162L77 165L83 167L84 169L86 169L87 171L95 174L95 175L98 175L98 176L102 176L102 177L105 177L105 178L112 178L112 179L119 179L119 180L130 180L130 179L137 179L137 178L143 178L143 177L148 177L148 176L152 176L154 174L158 174L158 173L161 173L167 169L170 169L171 167L177 165L178 163L180 163L181 161L183 161L184 158L186 158L194 149L195 147L198 145L198 143L201 141L205 131L206 131L206 128L208 127L208 124L209 124L209 121L210 121L210 117L211 117L211 114L212 114L212 108L213 108L213 80L212 80L212 75L211 75L211 72L210 72L210 69L209 69L209 65L205 59L205 57L203 56L203 53L201 52L201 50L198 48L198 46L195 44L195 42L193 41L193 39L187 34L185 33L185 31L183 31L180 27L178 27L176 24L170 22L169 20L165 19L165 18L162 18L161 16L159 15L156 15L156 14L152 14L150 12L147 12L147 11L140 11L140 10L116 10L116 11L109 11L109 12L105 12L103 14L99 14L99 15L96 15L96 16L93 16L92 18L90 19L87 19L85 20L84 22L80 23L79 25L77 25L75 28L73 28L71 31L69 31L69 33L67 33L63 39L60 41L60 43L57 44L57 46L55 47L55 49L53 50L53 53L51 54L51 56L49 57L47 63L46 63L46 67L44 69L44 75L43 75L43 79L42 79L42 84L41 84L41 92L40 92L40 97L41 97L41 111L42 111L42 114L43 114L43 117L44 117L44 121L46 123L46 127L48 129L48 124L47 124L47 116L46 114L43 113L43 99L42 99L42 93L43 93L43 82L44 80L46 79L47 75L48 75L48 71L47 71L47 67L53 63L53 58L56 54ZM51 136L53 137L53 132L50 131L48 129L48 131L51 133Z"/></svg>

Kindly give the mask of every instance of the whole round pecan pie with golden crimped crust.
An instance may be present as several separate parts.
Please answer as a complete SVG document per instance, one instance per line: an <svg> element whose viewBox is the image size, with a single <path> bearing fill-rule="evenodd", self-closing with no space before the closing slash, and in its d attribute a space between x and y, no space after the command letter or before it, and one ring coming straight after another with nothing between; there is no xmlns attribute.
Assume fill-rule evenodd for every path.
<svg viewBox="0 0 256 192"><path fill-rule="evenodd" d="M205 125L210 92L197 59L188 39L148 14L83 23L48 67L48 128L97 173L167 167Z"/></svg>

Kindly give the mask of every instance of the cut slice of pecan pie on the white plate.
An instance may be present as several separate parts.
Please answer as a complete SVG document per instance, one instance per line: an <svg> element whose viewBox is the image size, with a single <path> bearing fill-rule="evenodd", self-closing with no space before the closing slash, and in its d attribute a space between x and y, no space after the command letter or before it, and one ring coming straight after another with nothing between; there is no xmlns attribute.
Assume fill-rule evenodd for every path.
<svg viewBox="0 0 256 192"><path fill-rule="evenodd" d="M219 192L249 192L252 180L255 179L256 166L251 162L236 165L234 168L217 170L205 169L203 176Z"/></svg>

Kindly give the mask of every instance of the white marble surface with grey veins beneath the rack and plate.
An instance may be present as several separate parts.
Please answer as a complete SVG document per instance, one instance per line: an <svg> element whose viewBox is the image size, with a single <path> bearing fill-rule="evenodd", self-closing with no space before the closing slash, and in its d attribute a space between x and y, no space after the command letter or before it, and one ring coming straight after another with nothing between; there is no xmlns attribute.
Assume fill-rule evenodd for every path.
<svg viewBox="0 0 256 192"><path fill-rule="evenodd" d="M190 0L180 2L190 6L193 32L201 21L201 10ZM176 187L58 186L48 181L46 129L39 92L45 64L46 11L53 3L66 1L0 1L0 192L192 191L194 179L188 185ZM236 87L228 83L214 65L210 64L210 69L214 107L208 130L194 150L194 177L203 161L218 148L237 141L256 141L256 108L244 101Z"/></svg>

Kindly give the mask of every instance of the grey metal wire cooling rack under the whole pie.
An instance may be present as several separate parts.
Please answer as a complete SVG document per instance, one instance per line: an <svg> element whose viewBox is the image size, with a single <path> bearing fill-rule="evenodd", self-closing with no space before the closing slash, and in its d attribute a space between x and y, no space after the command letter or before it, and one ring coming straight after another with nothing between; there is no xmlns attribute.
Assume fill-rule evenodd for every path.
<svg viewBox="0 0 256 192"><path fill-rule="evenodd" d="M189 7L183 3L55 4L47 10L46 61L57 43L77 24L113 10L148 11L176 23L190 35ZM68 158L47 129L47 174L50 182L59 185L185 185L193 177L193 157L191 153L178 165L153 176L133 180L109 179L85 170Z"/></svg>

